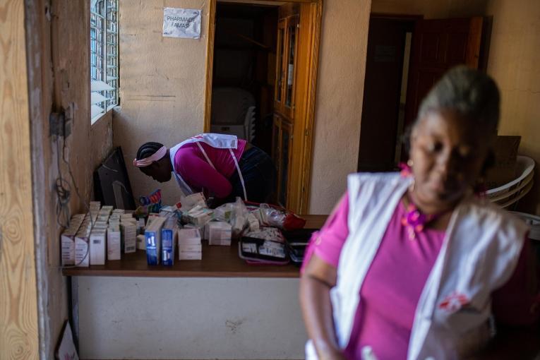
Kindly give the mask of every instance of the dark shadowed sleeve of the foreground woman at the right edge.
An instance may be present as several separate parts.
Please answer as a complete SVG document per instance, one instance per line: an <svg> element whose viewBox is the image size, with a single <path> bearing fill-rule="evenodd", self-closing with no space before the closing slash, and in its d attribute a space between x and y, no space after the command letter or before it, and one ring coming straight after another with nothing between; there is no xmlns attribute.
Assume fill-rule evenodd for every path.
<svg viewBox="0 0 540 360"><path fill-rule="evenodd" d="M540 317L540 294L536 282L536 268L531 261L529 239L525 239L520 260L500 289L493 292L493 314L505 325L532 325Z"/></svg>

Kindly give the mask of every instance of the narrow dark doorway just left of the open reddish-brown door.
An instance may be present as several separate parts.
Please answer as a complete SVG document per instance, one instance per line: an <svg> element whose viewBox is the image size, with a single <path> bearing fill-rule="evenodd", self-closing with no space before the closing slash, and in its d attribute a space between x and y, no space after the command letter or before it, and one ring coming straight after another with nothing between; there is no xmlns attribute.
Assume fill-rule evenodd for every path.
<svg viewBox="0 0 540 360"><path fill-rule="evenodd" d="M369 20L359 172L390 172L400 162L409 57L418 18L373 14Z"/></svg>

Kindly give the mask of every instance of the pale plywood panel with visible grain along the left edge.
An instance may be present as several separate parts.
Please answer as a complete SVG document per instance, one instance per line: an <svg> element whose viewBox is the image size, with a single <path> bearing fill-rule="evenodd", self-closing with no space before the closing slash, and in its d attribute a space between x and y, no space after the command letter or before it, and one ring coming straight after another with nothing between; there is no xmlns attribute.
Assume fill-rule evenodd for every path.
<svg viewBox="0 0 540 360"><path fill-rule="evenodd" d="M0 359L37 359L23 1L0 0Z"/></svg>

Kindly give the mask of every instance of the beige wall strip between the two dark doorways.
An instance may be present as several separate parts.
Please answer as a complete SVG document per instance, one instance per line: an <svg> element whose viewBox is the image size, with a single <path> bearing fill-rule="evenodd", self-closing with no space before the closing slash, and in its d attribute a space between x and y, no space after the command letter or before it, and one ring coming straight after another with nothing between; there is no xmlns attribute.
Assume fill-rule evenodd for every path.
<svg viewBox="0 0 540 360"><path fill-rule="evenodd" d="M309 212L328 214L356 172L371 1L323 5ZM344 36L347 35L347 36Z"/></svg>

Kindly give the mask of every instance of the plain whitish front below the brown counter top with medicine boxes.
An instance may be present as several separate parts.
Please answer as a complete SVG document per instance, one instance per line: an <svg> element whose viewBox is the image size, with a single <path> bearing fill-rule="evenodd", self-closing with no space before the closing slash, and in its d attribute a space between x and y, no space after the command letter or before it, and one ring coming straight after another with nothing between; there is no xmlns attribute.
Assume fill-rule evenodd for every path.
<svg viewBox="0 0 540 360"><path fill-rule="evenodd" d="M303 359L298 279L78 277L81 359Z"/></svg>

